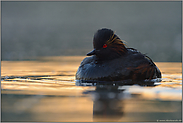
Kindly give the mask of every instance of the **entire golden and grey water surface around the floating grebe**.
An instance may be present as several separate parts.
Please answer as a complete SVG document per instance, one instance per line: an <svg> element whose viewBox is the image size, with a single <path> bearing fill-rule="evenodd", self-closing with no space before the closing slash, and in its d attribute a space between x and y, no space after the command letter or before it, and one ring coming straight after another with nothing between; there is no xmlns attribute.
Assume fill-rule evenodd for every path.
<svg viewBox="0 0 183 123"><path fill-rule="evenodd" d="M75 81L83 58L2 61L1 121L182 121L182 63L156 62L161 82L98 85Z"/></svg>

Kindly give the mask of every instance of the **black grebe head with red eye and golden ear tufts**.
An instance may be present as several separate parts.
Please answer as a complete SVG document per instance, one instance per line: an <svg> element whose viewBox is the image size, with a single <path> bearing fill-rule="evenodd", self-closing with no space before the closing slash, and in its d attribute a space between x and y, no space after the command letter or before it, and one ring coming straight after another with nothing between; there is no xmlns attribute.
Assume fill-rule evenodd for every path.
<svg viewBox="0 0 183 123"><path fill-rule="evenodd" d="M114 34L111 29L99 29L93 38L94 50L87 55L96 55L99 59L107 60L114 59L127 52L123 41Z"/></svg>

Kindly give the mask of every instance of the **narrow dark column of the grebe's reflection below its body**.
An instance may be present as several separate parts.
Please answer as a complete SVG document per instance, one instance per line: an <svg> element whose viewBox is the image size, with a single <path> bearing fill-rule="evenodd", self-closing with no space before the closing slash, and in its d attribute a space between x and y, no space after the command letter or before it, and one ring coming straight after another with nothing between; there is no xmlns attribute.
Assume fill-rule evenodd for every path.
<svg viewBox="0 0 183 123"><path fill-rule="evenodd" d="M93 118L116 120L123 116L123 91L118 86L96 86L93 97Z"/></svg>

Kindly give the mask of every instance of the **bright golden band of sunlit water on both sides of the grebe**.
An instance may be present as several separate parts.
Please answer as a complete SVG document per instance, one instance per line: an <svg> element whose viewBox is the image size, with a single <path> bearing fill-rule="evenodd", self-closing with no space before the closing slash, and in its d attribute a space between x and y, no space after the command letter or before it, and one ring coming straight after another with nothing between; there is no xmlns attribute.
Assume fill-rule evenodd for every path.
<svg viewBox="0 0 183 123"><path fill-rule="evenodd" d="M37 77L40 78L41 80L33 80L34 77L33 79L22 79L22 78L9 79L10 82L9 81L1 82L2 92L5 92L3 91L3 89L10 89L10 90L24 90L27 91L27 93L29 93L29 91L34 91L35 93L44 92L45 94L48 93L57 94L60 92L62 92L63 94L66 93L73 94L76 90L77 91L79 90L79 92L81 93L87 87L75 86L73 80L75 79L75 72L77 71L77 68L84 57L85 56L61 56L61 57L42 57L38 61L2 61L2 76L27 76L27 75L51 76L57 74L63 75L63 76L51 76L51 77L47 76ZM181 85L182 63L156 62L155 64L159 67L159 69L162 72L162 83L157 87L180 89L180 87L182 86ZM72 92L68 92L68 90ZM146 94L145 97L153 99L154 98L153 91L149 93L148 90L146 91L147 92L145 93ZM6 93L8 92L6 91Z"/></svg>

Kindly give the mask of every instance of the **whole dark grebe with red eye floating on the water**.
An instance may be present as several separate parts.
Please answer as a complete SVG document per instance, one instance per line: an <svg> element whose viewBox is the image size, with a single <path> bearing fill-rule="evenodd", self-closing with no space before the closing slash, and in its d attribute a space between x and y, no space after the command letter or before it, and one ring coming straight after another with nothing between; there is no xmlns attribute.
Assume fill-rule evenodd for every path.
<svg viewBox="0 0 183 123"><path fill-rule="evenodd" d="M161 78L161 72L147 55L127 48L111 29L99 29L93 37L93 50L81 62L76 80L123 81Z"/></svg>

